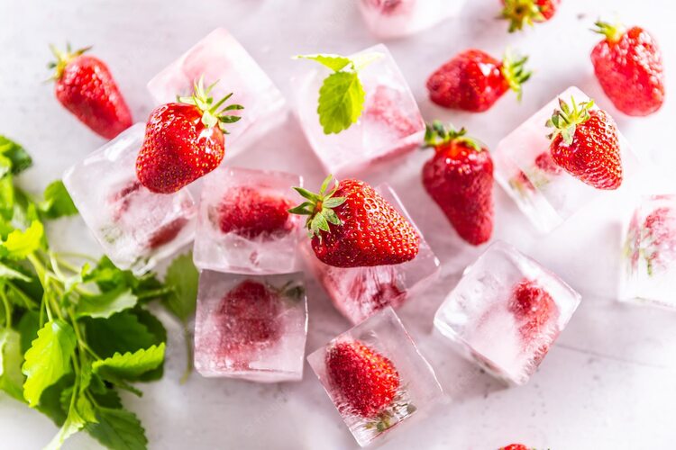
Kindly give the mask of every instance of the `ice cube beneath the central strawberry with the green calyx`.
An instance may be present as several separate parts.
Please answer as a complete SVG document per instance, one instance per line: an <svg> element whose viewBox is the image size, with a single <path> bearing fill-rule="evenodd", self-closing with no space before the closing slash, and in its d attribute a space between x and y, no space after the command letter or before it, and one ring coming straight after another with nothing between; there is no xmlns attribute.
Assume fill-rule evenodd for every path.
<svg viewBox="0 0 676 450"><path fill-rule="evenodd" d="M380 184L375 189L385 200L411 220L392 188ZM373 267L334 267L321 262L315 256L309 240L303 245L303 254L317 280L324 286L333 306L352 322L360 323L375 312L392 306L398 308L411 296L420 293L439 273L439 260L425 242L420 230L418 255L404 264Z"/></svg>

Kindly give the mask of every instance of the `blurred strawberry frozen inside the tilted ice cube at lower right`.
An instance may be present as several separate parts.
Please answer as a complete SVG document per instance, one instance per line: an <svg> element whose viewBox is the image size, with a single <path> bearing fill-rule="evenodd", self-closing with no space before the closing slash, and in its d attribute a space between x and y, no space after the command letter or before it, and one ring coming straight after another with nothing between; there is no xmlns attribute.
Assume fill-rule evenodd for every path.
<svg viewBox="0 0 676 450"><path fill-rule="evenodd" d="M552 295L526 278L512 289L507 309L514 314L526 340L539 336L559 316Z"/></svg>

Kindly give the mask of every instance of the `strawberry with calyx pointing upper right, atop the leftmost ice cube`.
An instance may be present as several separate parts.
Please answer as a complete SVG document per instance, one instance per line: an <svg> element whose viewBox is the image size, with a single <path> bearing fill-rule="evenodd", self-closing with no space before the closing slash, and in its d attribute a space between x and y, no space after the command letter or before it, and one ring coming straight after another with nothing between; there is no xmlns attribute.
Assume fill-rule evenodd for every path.
<svg viewBox="0 0 676 450"><path fill-rule="evenodd" d="M214 103L209 96L214 86L205 88L200 78L192 96L179 97L178 103L163 104L151 112L136 158L136 175L151 192L175 193L221 164L225 124L240 120L226 113L243 106L230 104L219 111L233 94Z"/></svg>

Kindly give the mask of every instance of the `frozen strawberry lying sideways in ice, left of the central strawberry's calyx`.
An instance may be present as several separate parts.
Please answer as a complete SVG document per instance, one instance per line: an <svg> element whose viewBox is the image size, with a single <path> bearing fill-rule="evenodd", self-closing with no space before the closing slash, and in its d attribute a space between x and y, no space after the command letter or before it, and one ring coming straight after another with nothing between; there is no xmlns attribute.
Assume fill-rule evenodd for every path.
<svg viewBox="0 0 676 450"><path fill-rule="evenodd" d="M291 206L285 197L260 193L252 187L235 187L219 203L217 220L221 231L243 238L284 236L294 228L288 213Z"/></svg>

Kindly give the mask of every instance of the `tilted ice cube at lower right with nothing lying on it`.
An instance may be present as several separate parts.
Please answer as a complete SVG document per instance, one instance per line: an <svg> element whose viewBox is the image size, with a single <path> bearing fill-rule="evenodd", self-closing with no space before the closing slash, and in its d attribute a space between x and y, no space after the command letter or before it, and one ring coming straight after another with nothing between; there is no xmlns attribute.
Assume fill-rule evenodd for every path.
<svg viewBox="0 0 676 450"><path fill-rule="evenodd" d="M524 384L580 304L568 284L504 242L465 269L434 316L461 355Z"/></svg>

